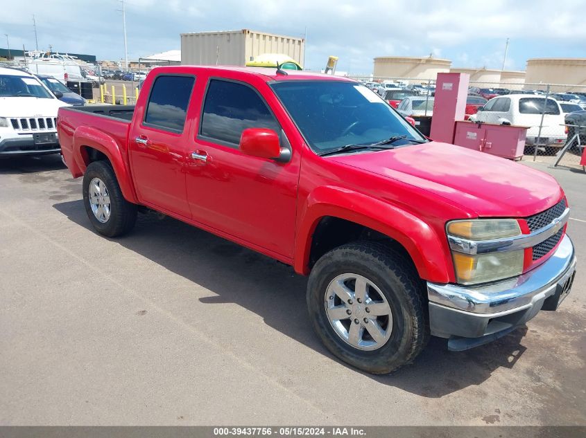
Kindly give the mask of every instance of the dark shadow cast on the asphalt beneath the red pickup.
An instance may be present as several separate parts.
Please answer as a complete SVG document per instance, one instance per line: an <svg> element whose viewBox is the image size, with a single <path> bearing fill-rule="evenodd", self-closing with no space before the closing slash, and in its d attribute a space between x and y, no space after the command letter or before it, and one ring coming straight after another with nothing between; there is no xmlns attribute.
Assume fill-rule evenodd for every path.
<svg viewBox="0 0 586 438"><path fill-rule="evenodd" d="M71 221L92 230L83 202L53 206ZM135 230L117 243L216 293L201 298L209 304L235 303L264 318L270 327L336 360L313 334L305 304L307 279L293 268L208 232L176 221L139 215ZM512 368L525 351L518 329L494 343L467 352L448 352L447 343L431 338L413 365L388 376L372 376L379 383L424 397L441 397L479 385L499 367Z"/></svg>

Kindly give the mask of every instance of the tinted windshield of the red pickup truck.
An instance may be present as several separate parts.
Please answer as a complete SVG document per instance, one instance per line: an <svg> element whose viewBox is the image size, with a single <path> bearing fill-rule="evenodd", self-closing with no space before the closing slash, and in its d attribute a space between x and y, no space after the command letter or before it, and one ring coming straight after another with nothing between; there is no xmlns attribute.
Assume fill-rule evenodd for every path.
<svg viewBox="0 0 586 438"><path fill-rule="evenodd" d="M314 152L370 145L393 136L424 141L379 95L354 82L275 82L271 87Z"/></svg>

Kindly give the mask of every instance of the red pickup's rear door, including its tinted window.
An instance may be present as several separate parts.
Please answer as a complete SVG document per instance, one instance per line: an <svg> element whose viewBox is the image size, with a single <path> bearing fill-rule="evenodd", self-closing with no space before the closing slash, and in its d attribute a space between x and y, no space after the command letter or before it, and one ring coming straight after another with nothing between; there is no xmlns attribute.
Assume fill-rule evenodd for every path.
<svg viewBox="0 0 586 438"><path fill-rule="evenodd" d="M137 196L157 210L191 217L185 190L189 101L196 77L161 73L128 138ZM189 116L189 117L188 117Z"/></svg>

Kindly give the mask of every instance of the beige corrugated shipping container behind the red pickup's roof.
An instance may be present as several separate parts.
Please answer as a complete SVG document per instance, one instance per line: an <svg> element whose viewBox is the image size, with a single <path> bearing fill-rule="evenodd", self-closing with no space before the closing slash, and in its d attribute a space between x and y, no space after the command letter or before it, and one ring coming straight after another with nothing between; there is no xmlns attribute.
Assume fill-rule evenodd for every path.
<svg viewBox="0 0 586 438"><path fill-rule="evenodd" d="M304 51L304 38L248 29L181 34L181 64L185 65L244 66L265 53L282 53L303 65Z"/></svg>

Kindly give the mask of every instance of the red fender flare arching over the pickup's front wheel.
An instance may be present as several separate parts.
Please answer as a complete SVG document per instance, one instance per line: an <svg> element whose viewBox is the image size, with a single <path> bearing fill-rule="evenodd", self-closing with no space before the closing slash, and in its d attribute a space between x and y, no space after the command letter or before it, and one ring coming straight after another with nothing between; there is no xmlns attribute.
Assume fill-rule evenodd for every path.
<svg viewBox="0 0 586 438"><path fill-rule="evenodd" d="M324 186L313 190L300 211L295 239L295 271L309 273L311 239L320 219L338 217L377 230L399 242L413 259L424 280L449 282L452 269L447 264L442 240L422 219L392 206L345 188Z"/></svg>

